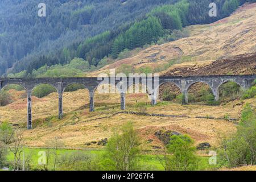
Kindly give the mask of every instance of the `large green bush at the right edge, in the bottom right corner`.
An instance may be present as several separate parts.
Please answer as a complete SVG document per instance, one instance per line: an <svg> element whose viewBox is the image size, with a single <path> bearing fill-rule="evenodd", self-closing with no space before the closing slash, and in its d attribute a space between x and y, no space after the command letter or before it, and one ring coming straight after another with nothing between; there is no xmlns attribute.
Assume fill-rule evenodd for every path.
<svg viewBox="0 0 256 182"><path fill-rule="evenodd" d="M228 167L256 164L256 112L249 104L242 111L237 133L222 141L220 156Z"/></svg>

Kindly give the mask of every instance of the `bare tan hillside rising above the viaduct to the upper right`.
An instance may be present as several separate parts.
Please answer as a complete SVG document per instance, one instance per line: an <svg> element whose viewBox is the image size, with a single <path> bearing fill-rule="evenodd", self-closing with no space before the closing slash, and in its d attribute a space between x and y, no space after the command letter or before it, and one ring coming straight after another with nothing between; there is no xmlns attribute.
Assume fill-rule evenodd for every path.
<svg viewBox="0 0 256 182"><path fill-rule="evenodd" d="M191 32L187 38L160 46L151 46L133 57L119 60L99 71L88 73L88 75L97 76L101 72L108 72L109 69L118 69L123 64L131 65L137 69L149 67L154 70L157 67L164 67L164 70L160 72L161 75L190 75L184 72L186 69L194 69L193 72L195 73L192 75L205 75L207 71L200 73L196 71L196 68L210 64L212 64L210 67L215 67L216 71L219 66L225 65L227 69L223 74L229 72L232 74L255 74L255 56L234 57L256 52L255 11L256 3L246 4L228 18L218 22L185 28ZM226 60L228 58L230 59ZM174 60L175 64L168 68L170 60ZM212 63L215 60L220 61ZM243 64L243 61L246 64ZM228 65L237 69L232 72L232 68L229 70ZM216 74L216 72L211 72L211 74Z"/></svg>

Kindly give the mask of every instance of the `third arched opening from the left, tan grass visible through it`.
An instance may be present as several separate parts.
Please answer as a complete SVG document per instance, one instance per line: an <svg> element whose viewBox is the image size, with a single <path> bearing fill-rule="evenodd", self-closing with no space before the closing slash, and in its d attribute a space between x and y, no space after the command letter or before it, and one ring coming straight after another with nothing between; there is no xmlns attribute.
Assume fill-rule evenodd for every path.
<svg viewBox="0 0 256 182"><path fill-rule="evenodd" d="M89 90L82 84L69 84L63 93L63 113L76 109L86 109L89 112Z"/></svg>

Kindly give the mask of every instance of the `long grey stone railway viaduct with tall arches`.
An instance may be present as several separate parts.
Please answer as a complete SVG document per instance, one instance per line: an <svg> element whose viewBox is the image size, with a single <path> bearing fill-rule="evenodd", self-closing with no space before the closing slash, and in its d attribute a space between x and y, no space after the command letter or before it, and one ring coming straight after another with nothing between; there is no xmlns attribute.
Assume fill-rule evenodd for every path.
<svg viewBox="0 0 256 182"><path fill-rule="evenodd" d="M110 79L109 83L110 83ZM115 79L115 78L114 78ZM127 78L127 88L131 85L134 85L134 81L136 78L133 78L133 81L129 81ZM189 77L152 77L150 80L148 78L139 78L141 83L147 83L147 93L151 99L151 104L156 105L157 101L157 93L160 85L166 84L168 82L174 83L179 89L181 93L184 94L183 104L188 103L188 89L191 85L197 82L204 82L209 85L210 89L212 89L213 96L215 100L218 101L218 88L225 82L233 81L240 85L243 89L248 89L250 86L254 84L254 80L256 79L256 75L232 75L232 76L189 76ZM144 82L143 82L144 81ZM148 82L152 82L152 86L148 85ZM115 80L115 86L120 81ZM157 82L158 84L154 84ZM98 78L90 77L90 78L1 78L0 77L0 90L5 88L6 85L9 84L17 84L23 86L23 88L27 92L27 129L32 129L32 101L31 101L31 93L32 90L40 85L40 84L49 84L56 88L59 94L59 118L63 117L63 92L67 86L71 84L82 84L86 89L89 90L90 96L90 111L94 111L94 92L98 88L98 86L102 85L102 80L98 80ZM125 93L127 88L122 88L121 94L121 109L125 110ZM150 91L150 92L148 92Z"/></svg>

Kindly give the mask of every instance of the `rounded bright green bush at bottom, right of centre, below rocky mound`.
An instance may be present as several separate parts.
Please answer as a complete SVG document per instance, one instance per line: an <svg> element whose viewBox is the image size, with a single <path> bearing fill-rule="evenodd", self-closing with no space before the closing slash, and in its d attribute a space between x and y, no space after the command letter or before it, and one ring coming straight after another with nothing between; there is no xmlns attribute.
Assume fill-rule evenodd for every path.
<svg viewBox="0 0 256 182"><path fill-rule="evenodd" d="M198 168L199 159L193 146L193 140L187 135L173 135L165 156L166 171L192 171Z"/></svg>

